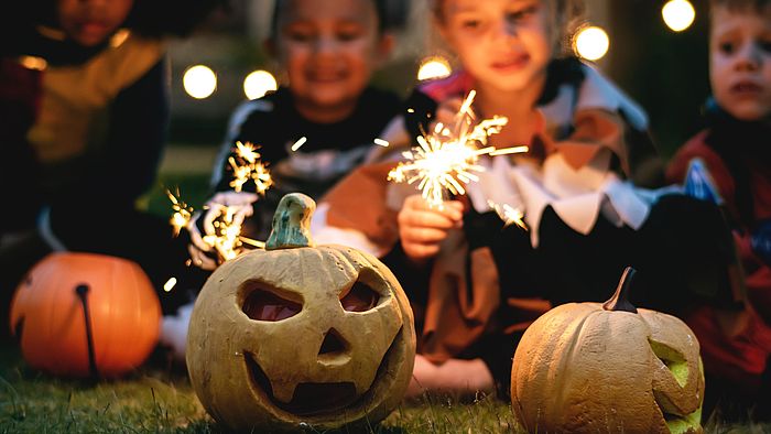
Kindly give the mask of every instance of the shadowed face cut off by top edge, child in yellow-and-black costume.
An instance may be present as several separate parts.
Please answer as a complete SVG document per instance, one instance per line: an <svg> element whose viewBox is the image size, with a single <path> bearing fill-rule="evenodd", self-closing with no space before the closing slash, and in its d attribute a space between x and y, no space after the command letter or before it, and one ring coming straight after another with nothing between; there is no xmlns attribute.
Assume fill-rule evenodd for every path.
<svg viewBox="0 0 771 434"><path fill-rule="evenodd" d="M133 0L57 0L62 29L77 43L98 45L109 37L131 11Z"/></svg>

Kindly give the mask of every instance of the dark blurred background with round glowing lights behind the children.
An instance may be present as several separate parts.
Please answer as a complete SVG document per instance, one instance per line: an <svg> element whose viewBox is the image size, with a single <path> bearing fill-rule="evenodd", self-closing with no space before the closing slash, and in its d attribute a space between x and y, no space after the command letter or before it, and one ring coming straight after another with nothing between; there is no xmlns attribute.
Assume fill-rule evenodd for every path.
<svg viewBox="0 0 771 434"><path fill-rule="evenodd" d="M448 74L454 66L431 32L428 0L405 1L409 17L398 48L374 77L376 85L404 96L420 79ZM167 199L152 202L164 200L162 192L177 187L199 205L228 116L281 79L262 48L272 1L228 4L196 33L172 44L171 145L158 192L148 198L151 207L169 209ZM707 0L586 0L586 23L574 35L573 50L643 106L669 159L702 128L709 91Z"/></svg>

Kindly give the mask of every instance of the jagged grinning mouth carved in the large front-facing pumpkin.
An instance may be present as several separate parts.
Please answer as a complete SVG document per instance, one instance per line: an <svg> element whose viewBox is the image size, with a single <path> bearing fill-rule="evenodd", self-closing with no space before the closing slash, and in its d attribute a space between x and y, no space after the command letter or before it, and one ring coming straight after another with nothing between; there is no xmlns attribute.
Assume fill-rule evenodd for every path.
<svg viewBox="0 0 771 434"><path fill-rule="evenodd" d="M400 328L388 351L386 351L386 356L383 356L383 359L380 361L372 386L360 397L356 394L356 386L349 381L334 383L301 382L297 383L294 390L292 401L289 403L280 402L273 395L273 388L271 387L270 380L257 360L254 360L254 356L249 351L243 351L243 358L251 377L252 386L263 392L276 408L301 416L334 414L343 409L357 408L372 400L372 390L376 384L379 384L383 380L386 372L389 371L389 362L395 348L394 344L401 334L402 329Z"/></svg>

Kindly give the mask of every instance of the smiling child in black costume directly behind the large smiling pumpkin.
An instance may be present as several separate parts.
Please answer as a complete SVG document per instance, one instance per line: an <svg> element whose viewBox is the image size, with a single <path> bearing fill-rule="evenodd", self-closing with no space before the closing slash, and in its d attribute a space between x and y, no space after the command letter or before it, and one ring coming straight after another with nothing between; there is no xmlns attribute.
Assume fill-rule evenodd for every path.
<svg viewBox="0 0 771 434"><path fill-rule="evenodd" d="M382 137L401 102L369 82L392 50L399 13L399 3L386 0L276 1L265 47L289 86L235 110L213 178L213 203L248 208L238 216L251 216L242 232L265 240L284 194L303 192L318 198L363 162L373 140ZM290 150L301 139L302 148ZM237 141L258 145L271 171L274 184L264 197L253 194L252 183L245 192L232 192L228 158ZM191 225L191 253L199 265L214 268L205 254L210 248L200 236L213 230L205 220L206 216Z"/></svg>

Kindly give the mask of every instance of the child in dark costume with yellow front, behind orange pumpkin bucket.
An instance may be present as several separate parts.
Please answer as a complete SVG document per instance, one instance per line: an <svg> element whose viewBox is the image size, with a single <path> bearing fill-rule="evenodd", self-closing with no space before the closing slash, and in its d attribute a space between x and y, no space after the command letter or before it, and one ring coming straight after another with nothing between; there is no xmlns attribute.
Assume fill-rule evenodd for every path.
<svg viewBox="0 0 771 434"><path fill-rule="evenodd" d="M165 145L165 39L187 34L217 1L153 3L34 2L2 19L0 185L12 204L0 221L3 318L21 275L52 250L132 259L164 310L178 304L161 287L185 269L185 243L134 203Z"/></svg>

